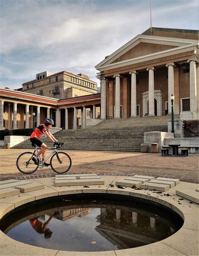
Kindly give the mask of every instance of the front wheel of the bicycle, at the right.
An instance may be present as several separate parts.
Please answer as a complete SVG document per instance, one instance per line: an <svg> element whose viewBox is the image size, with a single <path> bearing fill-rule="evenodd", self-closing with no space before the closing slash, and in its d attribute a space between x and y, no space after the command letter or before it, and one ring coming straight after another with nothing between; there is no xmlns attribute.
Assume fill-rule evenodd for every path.
<svg viewBox="0 0 199 256"><path fill-rule="evenodd" d="M50 166L54 172L65 173L71 168L71 157L65 152L57 152L50 159Z"/></svg>

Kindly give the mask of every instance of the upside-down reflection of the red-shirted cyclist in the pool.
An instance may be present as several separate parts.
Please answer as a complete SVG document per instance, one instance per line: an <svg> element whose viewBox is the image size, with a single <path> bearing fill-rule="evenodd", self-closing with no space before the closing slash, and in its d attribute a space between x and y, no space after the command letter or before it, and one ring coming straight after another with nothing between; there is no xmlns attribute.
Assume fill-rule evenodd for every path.
<svg viewBox="0 0 199 256"><path fill-rule="evenodd" d="M45 223L42 223L42 221L39 221L38 217L32 218L29 221L31 226L34 228L35 231L37 231L37 233L44 234L45 238L50 238L52 236L52 231L47 228L47 225L49 224L52 218L53 216L50 216Z"/></svg>

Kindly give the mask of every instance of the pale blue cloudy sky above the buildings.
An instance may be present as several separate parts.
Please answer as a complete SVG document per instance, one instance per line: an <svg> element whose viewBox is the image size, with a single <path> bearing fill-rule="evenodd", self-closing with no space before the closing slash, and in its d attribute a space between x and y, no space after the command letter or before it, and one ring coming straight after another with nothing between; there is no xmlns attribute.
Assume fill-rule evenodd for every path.
<svg viewBox="0 0 199 256"><path fill-rule="evenodd" d="M0 87L84 73L150 27L150 0L0 0ZM152 26L198 30L198 0L152 0Z"/></svg>

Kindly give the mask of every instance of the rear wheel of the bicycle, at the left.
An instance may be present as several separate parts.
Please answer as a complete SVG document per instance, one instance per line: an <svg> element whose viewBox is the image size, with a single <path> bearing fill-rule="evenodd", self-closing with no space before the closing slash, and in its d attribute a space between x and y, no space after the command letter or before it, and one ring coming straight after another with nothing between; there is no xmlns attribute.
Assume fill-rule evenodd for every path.
<svg viewBox="0 0 199 256"><path fill-rule="evenodd" d="M35 154L31 152L25 152L18 156L16 165L20 172L30 174L37 170L38 165L32 161L33 156L35 156Z"/></svg>

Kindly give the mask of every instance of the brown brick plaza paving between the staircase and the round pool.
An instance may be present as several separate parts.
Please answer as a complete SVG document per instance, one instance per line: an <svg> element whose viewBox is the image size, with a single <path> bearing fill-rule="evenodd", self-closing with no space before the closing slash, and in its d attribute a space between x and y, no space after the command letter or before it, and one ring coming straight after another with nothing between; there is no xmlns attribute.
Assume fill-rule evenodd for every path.
<svg viewBox="0 0 199 256"><path fill-rule="evenodd" d="M29 179L54 177L50 167L37 169L31 175L24 175L16 167L17 157L24 149L0 149L0 180L10 178ZM72 159L68 173L91 173L98 175L152 175L165 178L179 178L181 181L199 182L197 154L188 157L162 157L161 154L129 153L110 151L65 151ZM50 153L50 150L47 154Z"/></svg>

